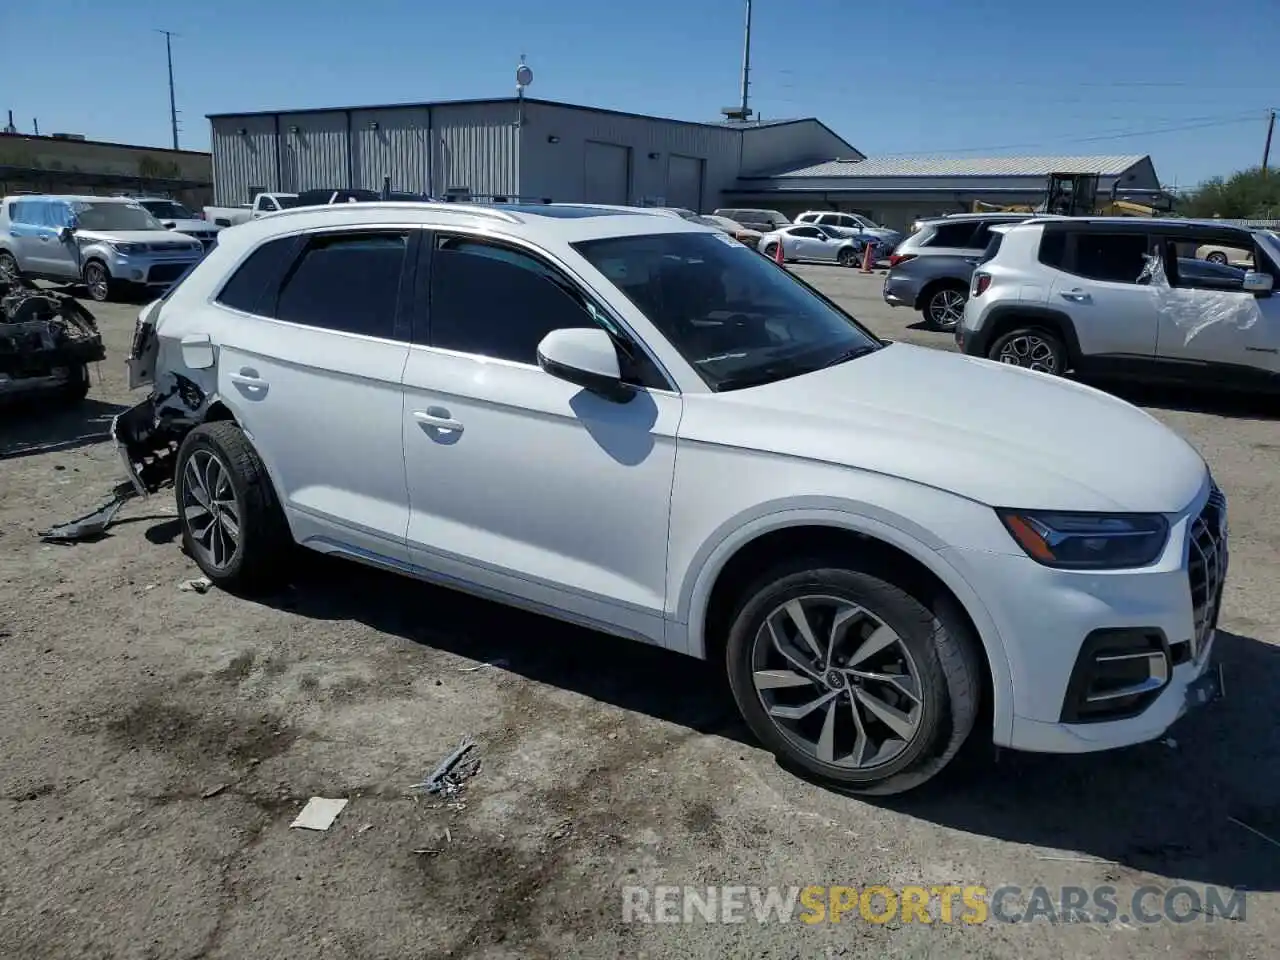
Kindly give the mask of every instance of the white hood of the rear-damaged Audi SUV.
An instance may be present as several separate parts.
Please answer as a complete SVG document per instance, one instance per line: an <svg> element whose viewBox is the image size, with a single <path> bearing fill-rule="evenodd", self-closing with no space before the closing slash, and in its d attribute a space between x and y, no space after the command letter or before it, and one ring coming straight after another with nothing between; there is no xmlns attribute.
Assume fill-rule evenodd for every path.
<svg viewBox="0 0 1280 960"><path fill-rule="evenodd" d="M687 399L682 439L899 476L992 507L1174 513L1207 470L1176 433L1101 390L905 343Z"/></svg>

